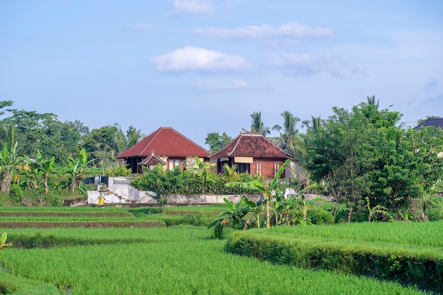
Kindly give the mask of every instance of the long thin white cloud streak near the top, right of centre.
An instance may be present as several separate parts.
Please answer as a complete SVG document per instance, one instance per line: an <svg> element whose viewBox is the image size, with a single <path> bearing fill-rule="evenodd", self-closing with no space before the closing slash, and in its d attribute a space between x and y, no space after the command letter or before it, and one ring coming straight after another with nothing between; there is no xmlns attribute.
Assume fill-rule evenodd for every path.
<svg viewBox="0 0 443 295"><path fill-rule="evenodd" d="M242 28L195 28L194 33L209 35L225 39L251 38L257 40L272 39L275 37L301 38L301 37L328 37L333 35L333 30L328 28L310 28L299 23L284 23L279 27L272 25L248 25Z"/></svg>

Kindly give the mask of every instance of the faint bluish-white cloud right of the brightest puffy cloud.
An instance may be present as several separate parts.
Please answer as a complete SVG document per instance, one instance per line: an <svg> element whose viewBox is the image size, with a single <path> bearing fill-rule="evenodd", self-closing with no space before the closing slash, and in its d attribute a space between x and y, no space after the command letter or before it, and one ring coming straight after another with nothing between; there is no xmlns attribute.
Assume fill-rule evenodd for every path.
<svg viewBox="0 0 443 295"><path fill-rule="evenodd" d="M328 73L333 76L346 76L362 72L355 67L343 64L333 54L311 55L282 52L269 54L265 64L289 75Z"/></svg>

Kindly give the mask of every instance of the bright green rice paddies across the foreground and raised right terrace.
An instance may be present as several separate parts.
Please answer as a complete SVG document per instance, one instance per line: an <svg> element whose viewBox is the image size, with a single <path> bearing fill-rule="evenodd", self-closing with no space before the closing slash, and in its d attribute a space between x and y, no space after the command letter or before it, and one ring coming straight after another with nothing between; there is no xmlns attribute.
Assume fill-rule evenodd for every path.
<svg viewBox="0 0 443 295"><path fill-rule="evenodd" d="M57 211L59 209L54 210ZM287 231L284 234L381 242L383 234L372 232L386 231L393 239L393 247L396 241L423 247L427 243L442 245L439 238L420 242L420 231L424 235L426 230L420 228L421 224L377 226L381 227L372 224L296 226L271 229L267 233ZM441 226L437 224L433 229L442 229ZM0 231L7 232L8 242L12 243L0 250L3 267L0 294L425 294L415 287L394 282L273 265L226 253L226 240L212 239L212 231L205 226L3 228ZM347 236L348 231L352 232L351 236ZM50 238L54 246L14 247L23 237ZM57 241L70 238L78 243L57 245Z"/></svg>

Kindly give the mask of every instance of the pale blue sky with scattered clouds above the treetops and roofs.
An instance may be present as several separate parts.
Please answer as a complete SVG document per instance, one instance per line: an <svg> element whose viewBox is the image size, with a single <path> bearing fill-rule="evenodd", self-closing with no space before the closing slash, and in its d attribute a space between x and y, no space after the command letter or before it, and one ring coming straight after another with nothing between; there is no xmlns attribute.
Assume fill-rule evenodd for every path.
<svg viewBox="0 0 443 295"><path fill-rule="evenodd" d="M368 96L414 127L443 117L442 16L440 0L0 0L0 100L206 149L253 112L272 128Z"/></svg>

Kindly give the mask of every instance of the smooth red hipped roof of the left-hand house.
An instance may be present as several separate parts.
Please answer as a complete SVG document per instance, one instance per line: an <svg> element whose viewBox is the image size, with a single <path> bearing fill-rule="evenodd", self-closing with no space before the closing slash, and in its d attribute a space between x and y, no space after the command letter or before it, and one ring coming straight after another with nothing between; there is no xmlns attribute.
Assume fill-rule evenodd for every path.
<svg viewBox="0 0 443 295"><path fill-rule="evenodd" d="M209 152L171 127L160 127L130 147L117 158L147 157L152 153L169 158L198 156L207 158Z"/></svg>

